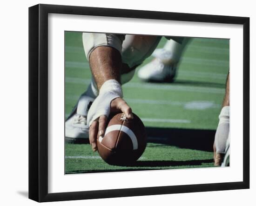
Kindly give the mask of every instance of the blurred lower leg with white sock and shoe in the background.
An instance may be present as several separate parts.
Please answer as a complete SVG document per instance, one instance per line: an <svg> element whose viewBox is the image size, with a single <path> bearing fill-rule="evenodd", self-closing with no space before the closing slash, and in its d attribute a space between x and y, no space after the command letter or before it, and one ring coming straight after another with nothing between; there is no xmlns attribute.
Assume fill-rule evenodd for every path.
<svg viewBox="0 0 256 206"><path fill-rule="evenodd" d="M143 81L172 82L175 79L177 65L185 46L190 38L182 38L178 42L173 39L167 41L161 49L155 49L152 60L141 67L138 77Z"/></svg>

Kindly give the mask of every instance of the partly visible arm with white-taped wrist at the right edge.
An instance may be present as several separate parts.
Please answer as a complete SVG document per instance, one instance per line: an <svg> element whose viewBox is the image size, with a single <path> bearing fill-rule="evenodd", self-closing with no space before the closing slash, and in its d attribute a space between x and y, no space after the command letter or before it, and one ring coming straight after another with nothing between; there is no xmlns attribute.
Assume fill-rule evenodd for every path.
<svg viewBox="0 0 256 206"><path fill-rule="evenodd" d="M221 166L224 156L229 156L229 75L226 83L226 92L222 104L222 110L219 115L219 124L215 134L214 141L214 161L215 166Z"/></svg>

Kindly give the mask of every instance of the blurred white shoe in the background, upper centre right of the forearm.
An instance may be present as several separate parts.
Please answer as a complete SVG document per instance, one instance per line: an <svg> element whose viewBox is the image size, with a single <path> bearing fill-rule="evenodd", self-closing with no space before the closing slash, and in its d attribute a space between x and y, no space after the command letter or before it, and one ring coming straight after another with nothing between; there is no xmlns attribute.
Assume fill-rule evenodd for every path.
<svg viewBox="0 0 256 206"><path fill-rule="evenodd" d="M178 61L172 53L164 49L156 49L152 56L155 56L155 59L141 67L138 77L142 81L173 82Z"/></svg>

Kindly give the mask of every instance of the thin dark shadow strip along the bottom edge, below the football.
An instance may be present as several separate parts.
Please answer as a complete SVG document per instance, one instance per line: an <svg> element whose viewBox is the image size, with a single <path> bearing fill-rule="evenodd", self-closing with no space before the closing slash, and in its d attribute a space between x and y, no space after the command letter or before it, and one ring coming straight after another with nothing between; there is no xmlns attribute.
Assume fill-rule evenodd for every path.
<svg viewBox="0 0 256 206"><path fill-rule="evenodd" d="M213 159L198 159L198 160L186 160L186 161L170 161L170 160L147 160L147 161L136 161L133 164L122 166L118 169L107 169L107 170L73 170L69 171L67 174L75 173L106 173L106 172L128 172L128 171L143 171L143 170L155 170L159 169L170 169L164 167L170 166L199 166L202 163L212 163ZM135 168L132 168L135 167ZM141 168L140 168L141 167Z"/></svg>

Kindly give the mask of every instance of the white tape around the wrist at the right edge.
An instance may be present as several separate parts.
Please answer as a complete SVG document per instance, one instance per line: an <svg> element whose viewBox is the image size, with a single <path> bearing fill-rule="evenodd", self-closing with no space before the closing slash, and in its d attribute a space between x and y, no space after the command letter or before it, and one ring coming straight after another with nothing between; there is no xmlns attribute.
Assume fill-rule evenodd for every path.
<svg viewBox="0 0 256 206"><path fill-rule="evenodd" d="M229 137L229 106L224 106L219 115L219 124L215 134L216 153L225 153Z"/></svg>

